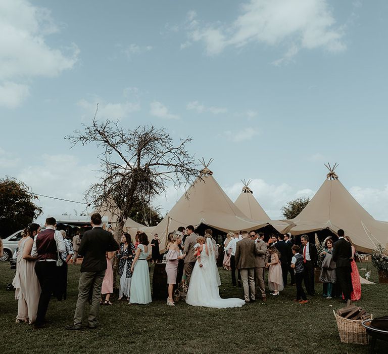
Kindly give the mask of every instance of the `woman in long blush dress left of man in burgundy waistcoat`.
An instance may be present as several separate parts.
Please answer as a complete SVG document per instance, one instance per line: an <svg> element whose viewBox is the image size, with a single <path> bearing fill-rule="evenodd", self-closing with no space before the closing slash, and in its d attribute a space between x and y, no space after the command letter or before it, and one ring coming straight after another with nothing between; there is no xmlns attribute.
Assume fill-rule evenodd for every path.
<svg viewBox="0 0 388 354"><path fill-rule="evenodd" d="M40 225L31 224L25 236L18 242L19 252L16 261L16 274L12 285L15 299L18 300L16 323L34 323L40 296L40 285L35 273L35 258L31 256L34 237Z"/></svg>

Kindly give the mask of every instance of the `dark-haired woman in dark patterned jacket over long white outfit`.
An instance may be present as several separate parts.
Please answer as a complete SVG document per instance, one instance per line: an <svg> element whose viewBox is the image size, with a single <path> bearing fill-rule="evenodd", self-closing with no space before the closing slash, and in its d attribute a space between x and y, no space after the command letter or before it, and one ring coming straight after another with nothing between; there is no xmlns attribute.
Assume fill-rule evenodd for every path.
<svg viewBox="0 0 388 354"><path fill-rule="evenodd" d="M117 259L119 260L119 300L121 300L124 296L128 301L130 299L132 280L131 265L135 251L135 246L131 241L131 235L126 232L123 233L121 236L120 249L116 255Z"/></svg>

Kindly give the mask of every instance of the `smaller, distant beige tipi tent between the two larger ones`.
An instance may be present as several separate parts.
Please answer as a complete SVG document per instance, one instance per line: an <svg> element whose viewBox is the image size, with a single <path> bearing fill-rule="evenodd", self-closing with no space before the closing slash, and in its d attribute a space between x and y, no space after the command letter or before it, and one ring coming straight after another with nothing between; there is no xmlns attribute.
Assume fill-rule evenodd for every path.
<svg viewBox="0 0 388 354"><path fill-rule="evenodd" d="M280 233L287 232L291 225L281 222L280 220L271 220L256 198L253 196L252 189L248 187L251 181L241 180L241 182L243 182L244 187L234 202L237 208L240 209L244 215L247 215L250 219L258 220L262 223L269 223Z"/></svg>

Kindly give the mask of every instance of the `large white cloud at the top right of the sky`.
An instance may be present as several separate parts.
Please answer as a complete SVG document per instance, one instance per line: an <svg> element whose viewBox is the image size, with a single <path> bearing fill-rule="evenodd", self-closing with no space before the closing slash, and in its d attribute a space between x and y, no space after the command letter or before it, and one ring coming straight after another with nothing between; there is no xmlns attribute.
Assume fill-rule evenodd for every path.
<svg viewBox="0 0 388 354"><path fill-rule="evenodd" d="M202 41L208 55L217 55L226 47L244 47L259 42L284 46L286 54L279 65L295 56L301 48L344 51L344 30L335 27L335 19L326 0L251 0L241 6L242 14L230 25L199 24L188 30L193 41Z"/></svg>

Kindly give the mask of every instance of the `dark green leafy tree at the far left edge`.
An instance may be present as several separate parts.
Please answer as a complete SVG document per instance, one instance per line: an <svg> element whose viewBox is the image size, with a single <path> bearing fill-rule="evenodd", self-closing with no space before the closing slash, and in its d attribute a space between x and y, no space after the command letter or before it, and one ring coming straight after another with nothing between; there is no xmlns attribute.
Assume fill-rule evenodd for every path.
<svg viewBox="0 0 388 354"><path fill-rule="evenodd" d="M0 180L0 233L3 237L27 227L42 209L33 201L38 199L23 182L6 177Z"/></svg>

